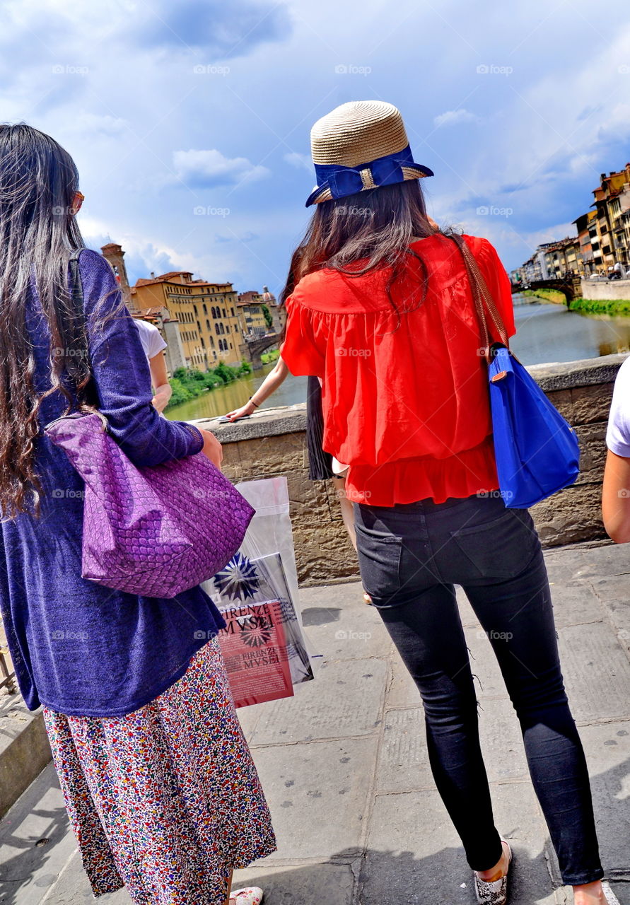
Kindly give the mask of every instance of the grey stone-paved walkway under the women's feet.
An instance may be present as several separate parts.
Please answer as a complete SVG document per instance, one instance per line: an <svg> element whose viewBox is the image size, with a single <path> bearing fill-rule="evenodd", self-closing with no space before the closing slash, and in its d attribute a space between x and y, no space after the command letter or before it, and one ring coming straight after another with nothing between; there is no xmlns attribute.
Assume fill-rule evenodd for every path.
<svg viewBox="0 0 630 905"><path fill-rule="evenodd" d="M630 546L547 554L572 708L587 749L612 891L630 905ZM515 862L511 905L571 901L531 790L490 645L462 597L482 744L501 832ZM247 871L267 905L465 905L463 851L430 775L422 709L358 584L301 597L317 679L292 700L241 711L268 795L278 852ZM37 844L47 839L47 843ZM92 901L47 767L0 824L0 902ZM103 905L129 905L124 891Z"/></svg>

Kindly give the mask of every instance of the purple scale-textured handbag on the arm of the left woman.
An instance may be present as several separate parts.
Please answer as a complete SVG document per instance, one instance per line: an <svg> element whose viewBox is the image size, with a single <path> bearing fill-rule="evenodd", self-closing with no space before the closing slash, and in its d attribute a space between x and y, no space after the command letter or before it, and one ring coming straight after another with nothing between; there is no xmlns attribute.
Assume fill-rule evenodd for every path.
<svg viewBox="0 0 630 905"><path fill-rule="evenodd" d="M85 481L81 576L142 597L211 578L241 546L254 510L201 452L137 468L102 415L46 427Z"/></svg>

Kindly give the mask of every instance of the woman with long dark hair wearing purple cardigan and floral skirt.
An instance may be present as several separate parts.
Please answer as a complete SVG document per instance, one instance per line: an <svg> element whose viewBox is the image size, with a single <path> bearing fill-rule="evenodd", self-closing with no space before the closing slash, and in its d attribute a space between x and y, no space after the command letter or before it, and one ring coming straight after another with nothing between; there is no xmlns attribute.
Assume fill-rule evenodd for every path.
<svg viewBox="0 0 630 905"><path fill-rule="evenodd" d="M220 446L151 405L138 330L96 252L80 252L85 322L74 317L81 200L63 148L0 125L2 617L94 894L124 885L141 905L223 905L233 868L275 841L216 642L222 617L201 587L161 600L81 578L83 484L43 427L90 392L137 465L196 452L218 465Z"/></svg>

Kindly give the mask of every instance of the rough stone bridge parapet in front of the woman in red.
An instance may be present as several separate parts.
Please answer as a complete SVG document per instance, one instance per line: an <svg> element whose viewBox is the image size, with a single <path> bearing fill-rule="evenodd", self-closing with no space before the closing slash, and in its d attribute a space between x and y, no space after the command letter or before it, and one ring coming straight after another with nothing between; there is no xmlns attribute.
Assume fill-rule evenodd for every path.
<svg viewBox="0 0 630 905"><path fill-rule="evenodd" d="M531 510L544 547L606 537L600 508L606 421L624 358L609 355L528 368L576 427L581 446L578 481ZM232 481L286 475L298 574L302 584L316 585L357 576L358 564L331 481L309 481L305 408L263 409L235 424L196 424L212 430L224 444L224 472Z"/></svg>

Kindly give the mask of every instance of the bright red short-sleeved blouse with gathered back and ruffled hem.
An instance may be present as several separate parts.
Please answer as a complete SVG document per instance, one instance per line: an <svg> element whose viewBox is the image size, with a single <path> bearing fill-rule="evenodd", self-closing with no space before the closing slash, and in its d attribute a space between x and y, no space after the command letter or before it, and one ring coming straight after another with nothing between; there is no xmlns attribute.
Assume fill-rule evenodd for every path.
<svg viewBox="0 0 630 905"><path fill-rule="evenodd" d="M486 239L465 235L508 334L511 285ZM323 448L349 465L348 499L393 506L499 487L485 360L462 254L439 233L411 245L390 290L383 268L314 271L287 299L282 358L322 379Z"/></svg>

